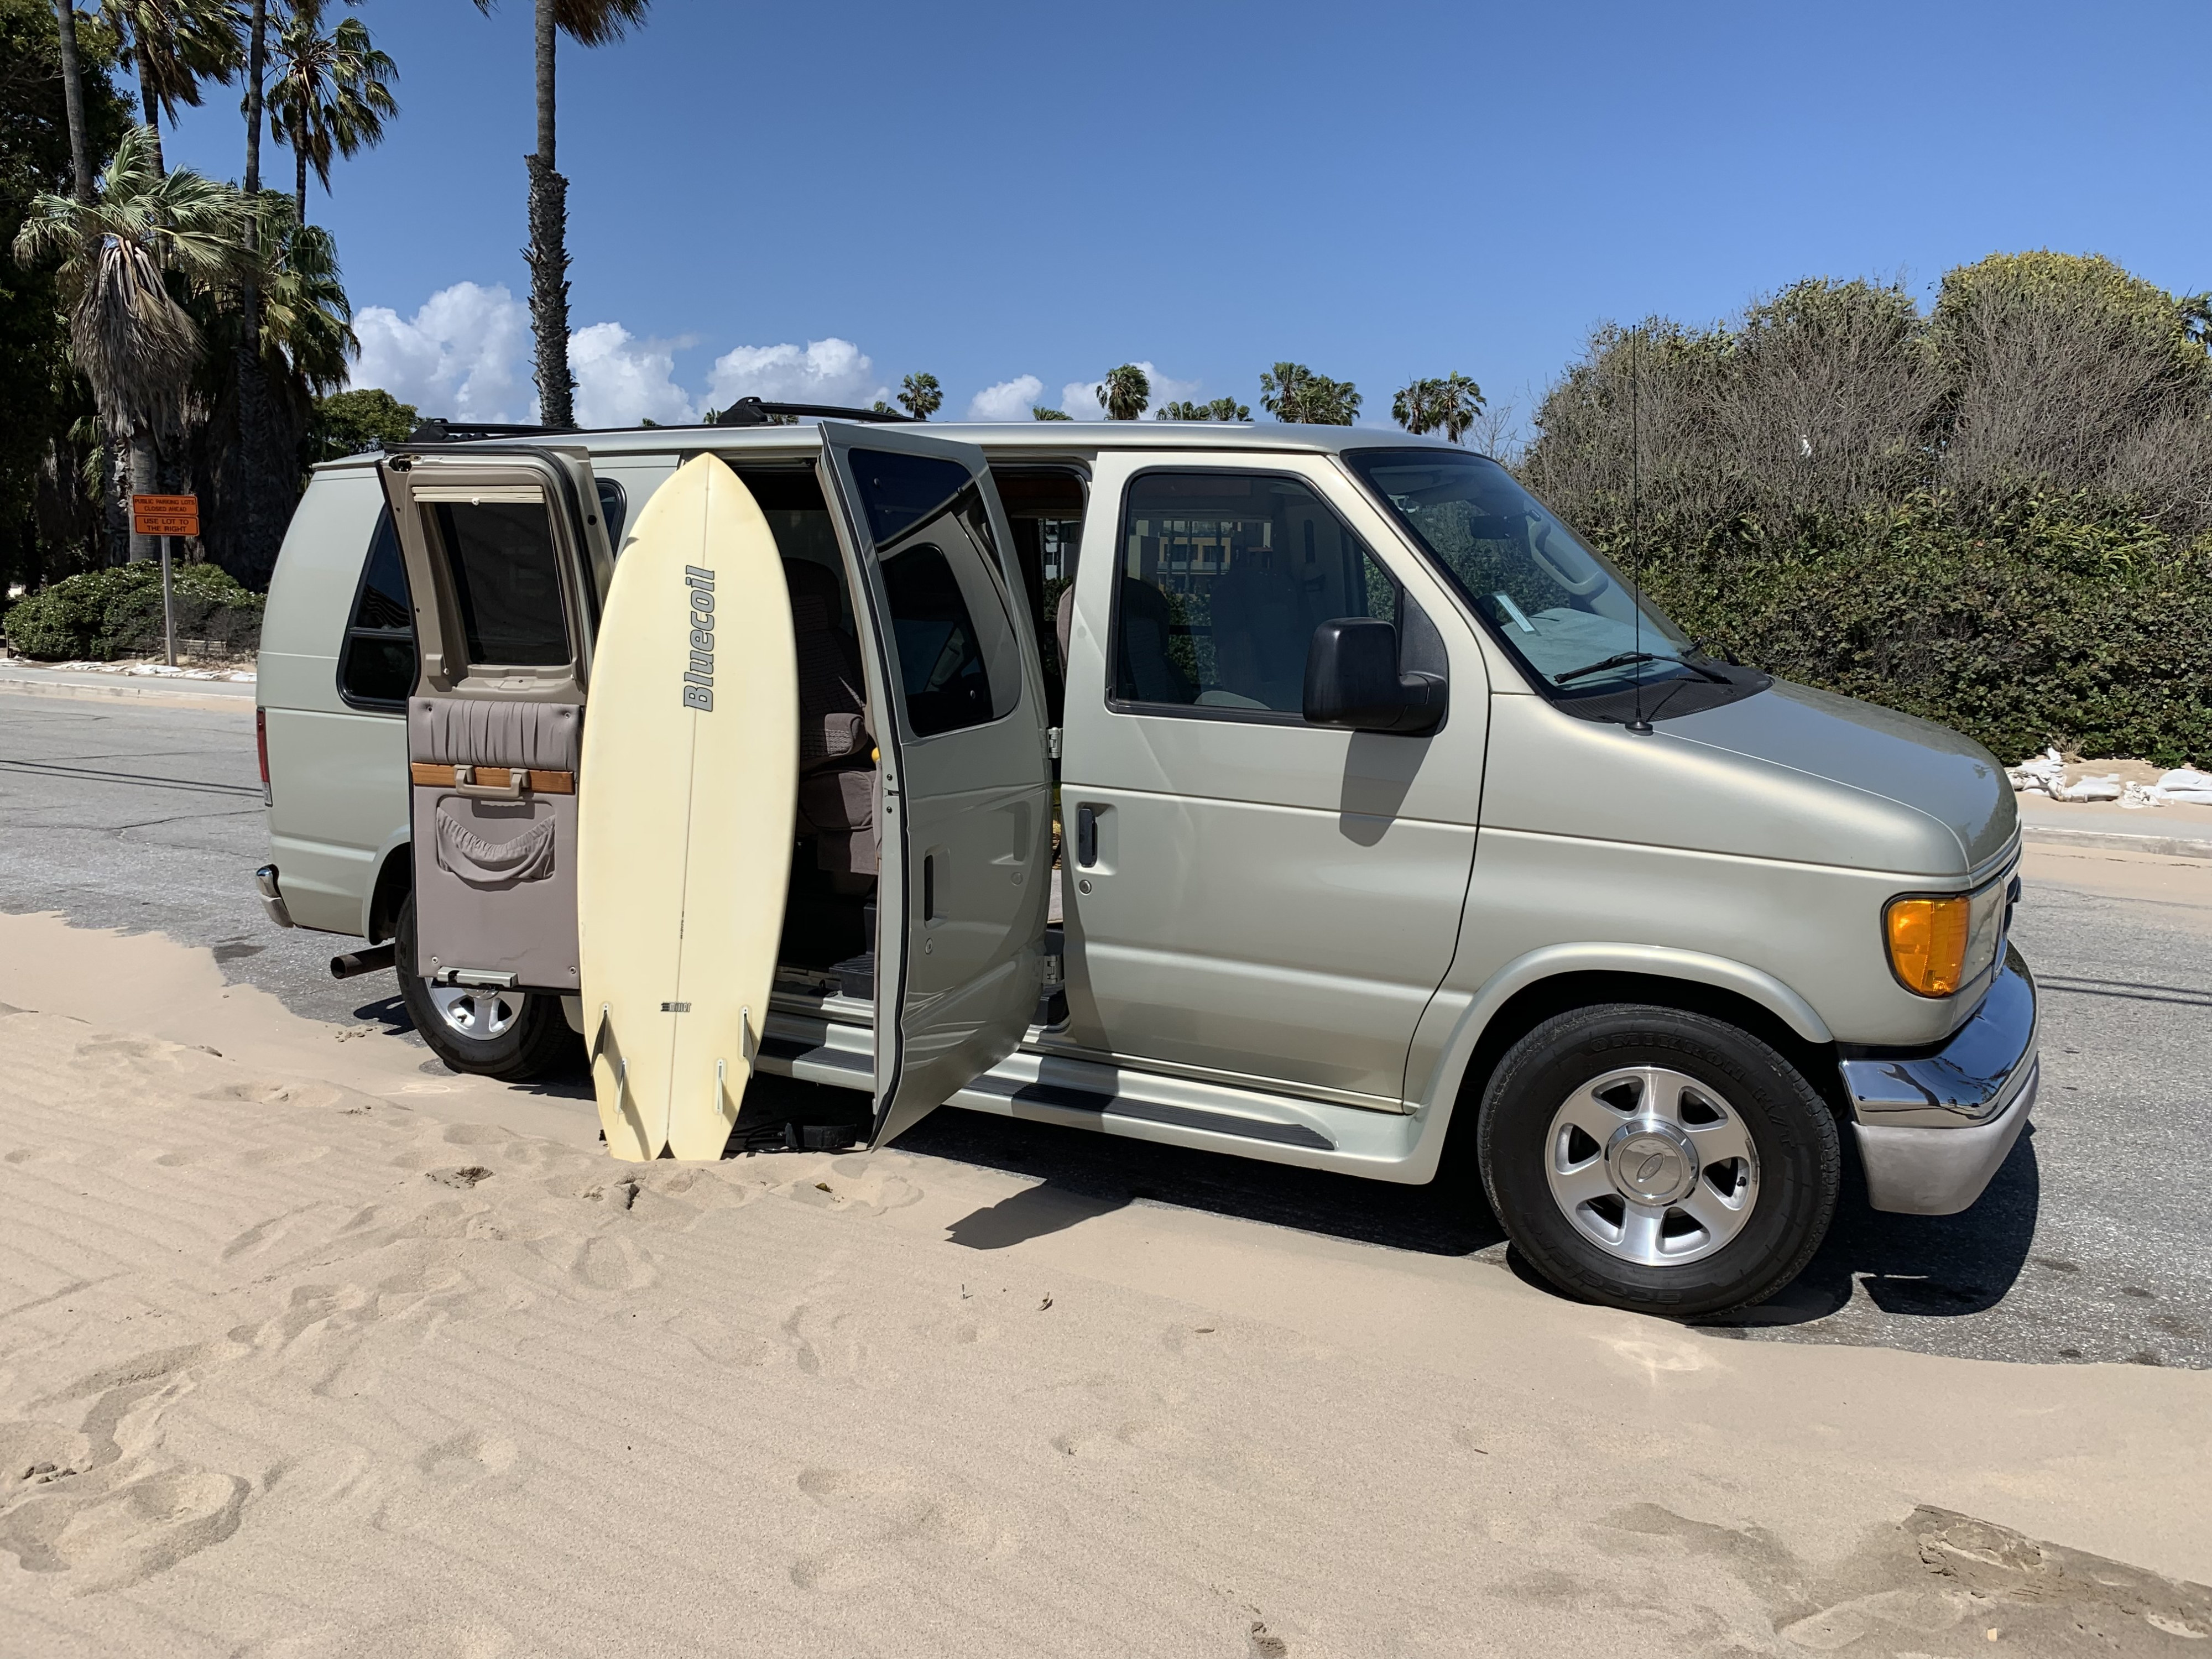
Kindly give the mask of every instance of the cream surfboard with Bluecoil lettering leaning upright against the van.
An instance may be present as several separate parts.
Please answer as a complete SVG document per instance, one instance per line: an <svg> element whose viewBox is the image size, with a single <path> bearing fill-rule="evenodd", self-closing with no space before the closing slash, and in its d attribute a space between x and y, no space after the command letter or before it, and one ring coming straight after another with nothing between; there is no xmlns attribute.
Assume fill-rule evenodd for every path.
<svg viewBox="0 0 2212 1659"><path fill-rule="evenodd" d="M699 456L637 515L584 714L584 1037L615 1157L721 1157L768 1018L796 792L783 562L752 491Z"/></svg>

